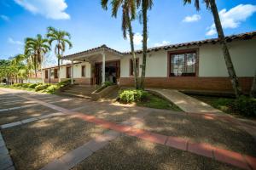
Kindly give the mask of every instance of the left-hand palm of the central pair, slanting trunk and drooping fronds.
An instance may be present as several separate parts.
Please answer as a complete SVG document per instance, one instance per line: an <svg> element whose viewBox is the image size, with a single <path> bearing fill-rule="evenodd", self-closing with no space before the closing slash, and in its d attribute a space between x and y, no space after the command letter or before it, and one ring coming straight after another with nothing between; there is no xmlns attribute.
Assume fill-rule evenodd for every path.
<svg viewBox="0 0 256 170"><path fill-rule="evenodd" d="M133 65L133 75L134 75L134 83L135 88L139 88L138 84L138 71L137 71L137 61L134 50L134 42L133 42L133 31L131 26L131 21L135 20L137 13L137 2L135 0L113 0L112 1L112 16L117 17L118 9L122 6L122 31L123 36L127 38L127 31L129 32L130 37L130 45L131 45L131 54L132 54L132 65ZM102 0L102 8L108 9L108 0Z"/></svg>

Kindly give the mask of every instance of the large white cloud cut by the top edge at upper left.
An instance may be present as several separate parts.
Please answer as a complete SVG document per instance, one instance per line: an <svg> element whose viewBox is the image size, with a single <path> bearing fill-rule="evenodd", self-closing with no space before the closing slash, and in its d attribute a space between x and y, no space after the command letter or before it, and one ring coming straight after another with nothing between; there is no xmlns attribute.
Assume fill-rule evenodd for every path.
<svg viewBox="0 0 256 170"><path fill-rule="evenodd" d="M48 19L68 20L69 14L65 12L67 3L65 0L15 0L15 3L32 14L42 14Z"/></svg>

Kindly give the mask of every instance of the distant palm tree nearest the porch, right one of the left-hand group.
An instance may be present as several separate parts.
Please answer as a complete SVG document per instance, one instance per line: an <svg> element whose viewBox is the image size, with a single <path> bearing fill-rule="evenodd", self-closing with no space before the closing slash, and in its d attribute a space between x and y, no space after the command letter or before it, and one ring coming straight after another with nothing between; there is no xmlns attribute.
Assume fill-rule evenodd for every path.
<svg viewBox="0 0 256 170"><path fill-rule="evenodd" d="M60 60L66 50L66 43L69 46L69 48L73 47L72 43L69 41L69 39L71 38L70 34L67 31L58 31L54 27L49 26L47 37L49 38L50 45L52 44L52 42L56 42L55 55L58 59L58 67L59 67L59 74L60 74L61 72ZM61 82L60 75L58 77L59 77L59 82Z"/></svg>

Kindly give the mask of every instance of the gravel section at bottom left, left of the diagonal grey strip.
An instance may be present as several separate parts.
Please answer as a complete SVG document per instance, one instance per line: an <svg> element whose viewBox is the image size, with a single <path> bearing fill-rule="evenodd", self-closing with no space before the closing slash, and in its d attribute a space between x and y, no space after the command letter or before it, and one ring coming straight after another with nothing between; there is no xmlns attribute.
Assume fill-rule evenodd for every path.
<svg viewBox="0 0 256 170"><path fill-rule="evenodd" d="M39 169L105 130L72 116L57 116L3 129L16 169Z"/></svg>

